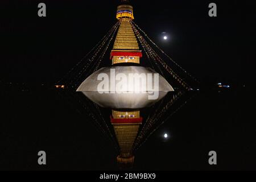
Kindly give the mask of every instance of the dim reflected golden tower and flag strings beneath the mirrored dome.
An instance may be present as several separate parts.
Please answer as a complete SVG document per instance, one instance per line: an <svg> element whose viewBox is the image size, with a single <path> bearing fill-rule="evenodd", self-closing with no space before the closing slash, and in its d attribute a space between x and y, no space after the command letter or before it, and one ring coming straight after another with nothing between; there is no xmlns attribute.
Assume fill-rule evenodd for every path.
<svg viewBox="0 0 256 182"><path fill-rule="evenodd" d="M166 92L166 96L161 100L155 100L154 103L150 102L148 105L144 102L143 108L136 108L136 104L129 104L130 108L109 107L109 96L104 93L101 97L106 96L106 100L101 101L101 106L95 104L92 98L84 97L84 93L75 93L74 96L82 105L81 109L86 109L94 122L97 122L96 126L100 128L102 136L112 140L112 147L116 147L118 152L116 158L118 167L127 169L133 167L136 151L164 122L170 120L171 115L179 110L193 96L193 93ZM106 106L102 105L104 101L106 101ZM109 115L101 114L102 111Z"/></svg>

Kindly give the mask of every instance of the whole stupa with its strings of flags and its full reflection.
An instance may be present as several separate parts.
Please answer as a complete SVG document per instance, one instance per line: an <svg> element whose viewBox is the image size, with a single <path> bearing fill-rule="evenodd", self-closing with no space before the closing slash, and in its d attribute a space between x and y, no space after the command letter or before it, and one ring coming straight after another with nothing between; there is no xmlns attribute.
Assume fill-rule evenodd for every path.
<svg viewBox="0 0 256 182"><path fill-rule="evenodd" d="M112 109L109 119L118 142L117 162L122 167L131 167L134 163L134 151L161 123L166 121L168 116L175 113L176 109L172 109L172 107L184 90L188 91L192 88L184 81L185 78L191 76L156 46L133 22L133 6L129 5L128 1L121 2L121 5L117 7L118 22L86 55L86 61L81 60L76 68L72 69L66 85L67 88L76 89L77 92L81 92L94 102L94 106L99 112L98 105ZM158 52L144 38L156 46L159 49ZM114 46L109 50L112 66L98 69L100 65L104 64L102 60L105 60L105 53L112 40L114 40ZM146 57L143 61L141 61L142 50L140 47L143 48L143 55ZM159 55L159 52L163 54L164 58ZM164 59L171 61L172 67ZM105 63L109 62L105 61ZM180 75L177 75L174 71L175 68L185 73L185 76L181 78ZM130 79L130 75L135 76ZM164 77L168 78L168 81ZM108 81L105 80L106 78ZM124 81L125 78L127 79ZM104 86L100 86L103 91L99 92L102 80L106 82ZM120 82L122 82L122 86L118 86ZM174 88L177 88L176 92L174 92ZM163 100L167 95L169 95L167 99ZM153 99L152 96L154 96ZM80 98L79 101L81 102L81 100ZM180 102L180 105L183 104L184 102ZM88 110L92 109L85 103L84 107ZM153 108L146 119L141 117L141 109L144 107ZM108 130L106 133L110 132L108 127L105 129Z"/></svg>

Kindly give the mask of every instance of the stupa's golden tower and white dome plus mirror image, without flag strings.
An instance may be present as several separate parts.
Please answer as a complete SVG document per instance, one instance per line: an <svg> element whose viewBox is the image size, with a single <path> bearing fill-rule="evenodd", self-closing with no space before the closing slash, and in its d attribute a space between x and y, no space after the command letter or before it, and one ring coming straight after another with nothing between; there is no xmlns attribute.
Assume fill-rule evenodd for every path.
<svg viewBox="0 0 256 182"><path fill-rule="evenodd" d="M112 67L104 67L92 73L81 83L77 91L84 93L86 97L96 104L112 109L110 121L119 145L117 163L119 166L127 168L133 166L133 144L143 120L139 109L154 104L162 99L167 92L174 91L174 89L159 74L157 74L158 97L154 100L148 99L148 96L152 94L151 92L155 92L155 77L152 77L154 89L148 89L148 82L146 82L146 85L141 83L133 86L130 85L130 82L126 82L125 89L117 88L116 86L113 88L111 85L110 81L112 80L113 70L115 75L121 73L127 77L129 77L130 73L137 73L137 75L142 73L145 75L155 75L156 73L151 68L139 66L142 51L139 49L138 40L130 22L134 19L133 6L128 5L127 1L122 1L122 3L122 5L117 7L116 18L120 24L115 36L113 49L110 52ZM98 79L98 76L101 73L110 78L107 85L108 89L105 88L103 93L98 92L98 85L102 81ZM115 85L118 85L119 81L121 80L115 79Z"/></svg>

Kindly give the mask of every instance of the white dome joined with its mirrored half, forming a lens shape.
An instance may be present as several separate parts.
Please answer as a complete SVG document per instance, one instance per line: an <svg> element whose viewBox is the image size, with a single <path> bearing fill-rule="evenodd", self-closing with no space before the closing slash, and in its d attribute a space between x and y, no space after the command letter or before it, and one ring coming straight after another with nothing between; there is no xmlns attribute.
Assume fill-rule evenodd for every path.
<svg viewBox="0 0 256 182"><path fill-rule="evenodd" d="M85 81L82 82L82 84L79 86L79 88L77 88L76 91L84 93L86 97L88 97L90 100L92 100L93 102L95 102L96 104L102 107L110 107L113 109L139 109L139 108L151 106L155 102L161 100L167 94L167 92L174 91L174 89L166 81L166 79L164 79L164 77L162 77L161 75L158 75L159 84L158 84L157 92L154 89L148 89L147 81L145 81L146 84L145 83L143 84L141 82L140 85L132 86L133 89L130 89L129 83L125 82L126 84L125 88L127 89L120 90L119 88L117 88L117 85L120 80L116 80L116 79L115 79L115 87L114 87L115 92L104 92L104 93L98 92L98 85L100 84L100 82L102 82L102 80L98 80L98 75L100 75L101 73L105 73L105 76L108 76L110 78L110 75L111 75L110 72L113 73L111 69L114 69L115 76L118 73L122 73L124 74L123 76L127 76L127 77L129 77L130 73L138 73L138 75L140 75L141 73L144 73L145 75L147 75L148 73L151 73L152 75L154 75L154 73L156 73L151 68L145 68L145 67L135 67L135 66L104 67L99 69L97 72L94 72L88 78L86 78ZM152 76L152 85L155 88L154 78L155 77ZM110 81L107 88L108 88L107 91L113 91L111 90ZM117 93L118 91L121 91L121 93ZM127 92L124 92L124 91L127 91ZM154 99L152 99L153 95L155 96Z"/></svg>

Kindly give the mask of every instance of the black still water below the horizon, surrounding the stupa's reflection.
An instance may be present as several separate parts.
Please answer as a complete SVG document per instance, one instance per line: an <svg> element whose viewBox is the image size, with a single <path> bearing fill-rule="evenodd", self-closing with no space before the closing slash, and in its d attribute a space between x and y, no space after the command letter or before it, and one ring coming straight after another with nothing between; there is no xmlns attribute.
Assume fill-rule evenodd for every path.
<svg viewBox="0 0 256 182"><path fill-rule="evenodd" d="M243 90L184 94L143 138L134 169L256 169L252 96ZM1 105L0 169L118 169L118 151L104 134L109 131L90 117L100 111L114 134L111 109L95 107L81 93L56 90L1 93ZM143 121L155 110L141 109ZM47 166L37 163L40 150ZM211 150L217 166L208 164Z"/></svg>

